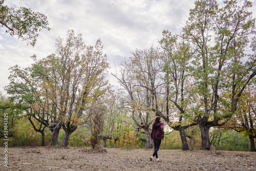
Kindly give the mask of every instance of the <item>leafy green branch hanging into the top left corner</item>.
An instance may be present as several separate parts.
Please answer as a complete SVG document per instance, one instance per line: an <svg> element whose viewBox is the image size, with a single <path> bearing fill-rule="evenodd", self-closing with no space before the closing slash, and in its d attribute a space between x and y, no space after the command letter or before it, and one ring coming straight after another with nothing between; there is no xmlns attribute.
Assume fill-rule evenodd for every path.
<svg viewBox="0 0 256 171"><path fill-rule="evenodd" d="M7 28L6 32L11 36L17 35L34 47L38 32L42 29L50 31L47 16L25 7L9 8L4 1L0 1L1 27Z"/></svg>

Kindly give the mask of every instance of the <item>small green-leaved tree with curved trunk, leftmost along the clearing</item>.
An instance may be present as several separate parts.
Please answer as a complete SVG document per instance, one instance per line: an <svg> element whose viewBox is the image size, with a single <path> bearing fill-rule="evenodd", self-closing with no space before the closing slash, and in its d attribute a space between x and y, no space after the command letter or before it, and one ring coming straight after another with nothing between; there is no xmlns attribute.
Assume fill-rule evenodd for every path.
<svg viewBox="0 0 256 171"><path fill-rule="evenodd" d="M40 98L38 85L41 83L34 75L34 68L20 69L17 65L11 67L10 83L5 87L14 103L12 112L16 117L27 117L34 130L42 136L41 145L45 145L45 127L49 126L49 113L45 108L37 108L44 104ZM33 117L35 120L32 120Z"/></svg>

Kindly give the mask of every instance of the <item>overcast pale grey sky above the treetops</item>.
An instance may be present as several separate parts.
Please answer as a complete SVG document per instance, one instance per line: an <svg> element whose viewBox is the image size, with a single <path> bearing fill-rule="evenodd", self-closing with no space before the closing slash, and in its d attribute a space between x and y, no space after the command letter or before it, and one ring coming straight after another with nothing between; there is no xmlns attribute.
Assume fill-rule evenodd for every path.
<svg viewBox="0 0 256 171"><path fill-rule="evenodd" d="M221 3L221 0L217 0ZM9 84L9 68L29 67L35 54L39 59L55 53L55 38L66 38L67 31L82 33L84 42L94 46L98 38L115 72L136 49L158 46L163 30L181 33L194 0L6 0L9 7L24 6L48 17L50 31L41 31L36 45L11 37L0 27L0 91ZM251 11L256 11L256 0ZM255 13L253 14L256 17ZM113 79L110 83L115 83Z"/></svg>

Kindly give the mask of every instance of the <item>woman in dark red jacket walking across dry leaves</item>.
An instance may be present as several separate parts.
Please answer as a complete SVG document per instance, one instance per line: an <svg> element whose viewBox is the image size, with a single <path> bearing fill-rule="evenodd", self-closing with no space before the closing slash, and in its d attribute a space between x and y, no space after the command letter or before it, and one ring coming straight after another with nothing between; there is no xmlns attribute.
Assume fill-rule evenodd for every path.
<svg viewBox="0 0 256 171"><path fill-rule="evenodd" d="M155 148L154 148L153 156L151 156L151 158L150 158L150 161L152 161L155 156L157 158L156 161L159 161L159 158L157 156L157 152L158 152L158 149L160 147L161 141L164 137L163 135L164 135L164 131L163 131L162 119L160 117L157 117L155 122L153 123L152 131L151 131L151 138L154 141Z"/></svg>

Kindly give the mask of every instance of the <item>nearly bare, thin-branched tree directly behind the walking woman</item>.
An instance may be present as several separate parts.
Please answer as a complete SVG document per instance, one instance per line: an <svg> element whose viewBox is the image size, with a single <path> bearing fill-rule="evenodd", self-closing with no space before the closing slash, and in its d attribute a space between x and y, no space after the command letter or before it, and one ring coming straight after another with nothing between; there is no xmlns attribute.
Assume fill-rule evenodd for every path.
<svg viewBox="0 0 256 171"><path fill-rule="evenodd" d="M124 98L126 106L129 106L132 119L135 123L136 131L145 135L141 140L145 148L152 147L150 135L150 125L153 122L153 106L155 96L152 95L153 89L159 86L160 66L158 65L157 50L136 50L132 53L130 61L122 63L121 77L115 76L123 89L127 92ZM157 91L160 91L157 89ZM154 90L155 92L155 90ZM160 92L157 92L160 93ZM141 130L144 131L141 131Z"/></svg>

